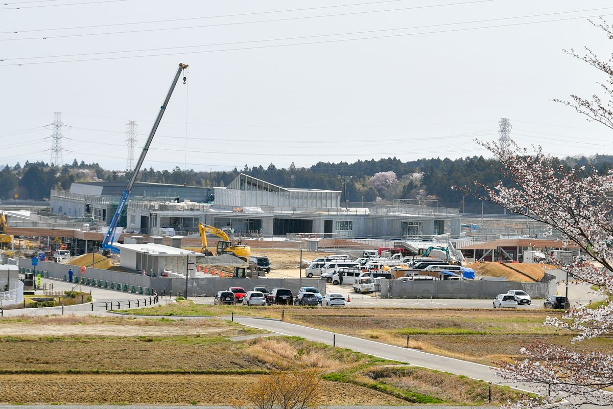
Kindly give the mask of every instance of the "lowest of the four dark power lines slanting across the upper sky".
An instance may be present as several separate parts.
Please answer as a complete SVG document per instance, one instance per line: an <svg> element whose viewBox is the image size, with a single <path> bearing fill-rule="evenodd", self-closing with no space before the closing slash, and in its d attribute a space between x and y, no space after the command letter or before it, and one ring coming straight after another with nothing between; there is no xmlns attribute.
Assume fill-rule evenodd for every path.
<svg viewBox="0 0 613 409"><path fill-rule="evenodd" d="M569 12L571 13L571 12ZM192 52L181 52L181 53L161 53L161 54L148 54L148 55L131 55L131 56L115 56L115 57L107 57L107 58L83 58L83 59L67 59L61 61L39 61L36 63L18 63L18 64L0 64L2 67L9 66L26 66L26 65L39 65L39 64L60 64L60 63L80 63L83 61L105 61L105 60L113 60L113 59L128 59L128 58L148 58L148 57L157 57L157 56L171 56L171 55L188 55L188 54L202 54L202 53L216 53L216 52L227 52L227 51L242 51L242 50L256 50L259 48L278 48L278 47L293 47L295 45L314 45L314 44L329 44L335 42L349 42L349 41L357 41L357 40L371 40L371 39L384 39L384 38L394 38L394 37L406 37L406 36L421 36L424 34L438 34L445 32L459 32L459 31L472 31L479 29L488 29L488 28L501 28L501 27L512 27L512 26L523 26L523 25L532 25L532 24L540 24L540 23L553 23L557 21L569 21L569 20L579 20L583 18L595 18L595 17L607 17L613 14L601 14L601 15L590 15L590 16L582 16L582 17L568 17L568 18L557 18L554 20L541 20L541 21L525 21L522 23L509 23L505 25L493 25L493 26L482 26L482 27L468 27L468 28L458 28L458 29L449 29L449 30L438 30L438 31L424 31L424 32L409 32L405 34L390 34L388 36L371 36L371 37L358 37L354 39L337 39L337 40L322 40L322 41L311 41L311 42L302 42L302 43L293 43L293 44L276 44L276 45L260 45L256 47L238 47L238 48L221 48L219 50L203 50L203 51L192 51ZM523 18L523 17L508 17L508 18ZM495 20L506 20L508 18L495 19ZM476 21L479 22L479 21ZM457 24L468 24L469 22L463 23L447 23L444 25L433 25L433 26L445 26L445 25L457 25ZM234 42L234 43L224 43L218 45L232 45L232 44L249 44L253 42L269 42L269 41L281 41L281 40L289 40L289 39L307 39L307 38L316 38L316 37L329 37L329 36L343 36L349 34L361 34L365 32L381 32L381 31L396 31L396 30L404 30L404 29L412 29L413 27L405 27L405 28L394 28L394 29L381 29L381 30L371 30L371 31L361 31L361 32L346 32L346 33L338 33L338 34L321 34L318 36L305 36L305 37L293 37L288 39L268 39L268 40L253 40L253 41L242 41L242 42ZM194 45L191 47L168 47L161 49L179 49L179 48L194 48L194 47L210 47L217 44L210 45ZM160 49L160 50L161 50ZM132 50L126 52L140 52L140 51L150 51L150 50ZM83 55L96 55L96 54L112 54L118 52L105 52L105 53L88 53ZM61 56L61 55L60 55ZM11 58L10 60L15 59L34 59L34 58L56 58L60 56L44 56L44 57L25 57L25 58ZM78 55L73 55L78 56ZM0 61L8 61L9 59L0 59Z"/></svg>

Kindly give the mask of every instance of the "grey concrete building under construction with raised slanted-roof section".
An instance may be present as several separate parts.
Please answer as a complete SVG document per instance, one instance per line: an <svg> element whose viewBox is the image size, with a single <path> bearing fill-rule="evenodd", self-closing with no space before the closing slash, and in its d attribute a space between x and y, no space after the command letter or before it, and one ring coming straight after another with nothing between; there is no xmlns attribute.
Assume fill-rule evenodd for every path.
<svg viewBox="0 0 613 409"><path fill-rule="evenodd" d="M340 207L340 191L286 189L239 175L215 188L213 203L130 202L128 231L172 235L197 232L197 224L232 226L235 233L326 238L394 238L460 235L459 209L402 204Z"/></svg>

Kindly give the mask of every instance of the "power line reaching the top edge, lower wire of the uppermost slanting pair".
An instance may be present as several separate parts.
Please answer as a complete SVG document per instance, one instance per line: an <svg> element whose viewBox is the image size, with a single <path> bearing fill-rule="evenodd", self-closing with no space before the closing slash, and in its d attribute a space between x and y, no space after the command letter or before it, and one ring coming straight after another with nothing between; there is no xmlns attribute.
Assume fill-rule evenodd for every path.
<svg viewBox="0 0 613 409"><path fill-rule="evenodd" d="M457 4L480 3L480 2L489 2L489 1L492 1L492 0L477 0L477 1L467 2L467 3L440 4L440 5L435 5L435 6L401 7L399 9L369 10L369 11L363 11L363 12L325 14L325 15L303 16L303 17L286 17L286 18L275 18L272 20L236 21L234 23L218 23L218 24L208 24L208 25L199 25L199 26L148 28L148 29L142 29L142 30L111 31L111 32L89 32L85 34L64 34L63 36L26 37L26 38L21 38L21 39L0 39L0 41L21 41L21 40L41 40L41 39L47 40L47 39L62 39L62 38L70 38L70 37L107 36L109 34L131 34L134 32L169 31L169 30L184 30L184 29L191 29L191 28L235 26L235 25L243 25L243 24L255 24L255 23L274 23L276 21L307 20L310 18L340 17L340 16L347 16L347 15L359 15L359 14L370 14L370 13L387 13L387 12L395 12L395 11L402 11L402 10L424 9L428 7L455 6ZM606 8L611 9L613 7L606 7ZM592 11L592 10L585 10L585 11ZM570 13L570 12L567 12L567 13ZM558 14L558 13L554 13L554 14Z"/></svg>

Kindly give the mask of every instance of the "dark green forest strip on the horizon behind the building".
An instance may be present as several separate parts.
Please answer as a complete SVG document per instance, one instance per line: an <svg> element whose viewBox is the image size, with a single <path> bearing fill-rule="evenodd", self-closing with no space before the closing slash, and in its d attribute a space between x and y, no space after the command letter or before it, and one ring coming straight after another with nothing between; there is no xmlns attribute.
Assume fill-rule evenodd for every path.
<svg viewBox="0 0 613 409"><path fill-rule="evenodd" d="M528 157L526 160L530 160ZM596 155L557 159L565 169L575 169L578 174L582 167L595 167L607 172L613 167L613 156ZM278 169L274 164L249 167L247 164L233 170L203 172L194 169L155 170L142 169L137 180L152 183L172 183L191 186L226 186L242 172L286 188L333 189L346 194L349 202L394 202L440 205L460 208L462 213L481 213L482 202L471 195L465 195L462 186L473 186L478 180L486 186L494 186L505 180L500 166L493 159L472 156L460 159L431 158L403 162L397 158L370 161L318 162L311 167ZM12 199L14 194L20 200L46 200L51 189L70 188L72 182L126 181L130 172L102 169L97 163L86 164L74 159L72 164L61 167L49 166L45 162L6 164L0 171L0 199ZM346 184L340 176L351 177ZM345 178L346 180L347 178ZM452 188L455 187L455 188ZM503 210L492 204L484 204L485 212L497 213Z"/></svg>

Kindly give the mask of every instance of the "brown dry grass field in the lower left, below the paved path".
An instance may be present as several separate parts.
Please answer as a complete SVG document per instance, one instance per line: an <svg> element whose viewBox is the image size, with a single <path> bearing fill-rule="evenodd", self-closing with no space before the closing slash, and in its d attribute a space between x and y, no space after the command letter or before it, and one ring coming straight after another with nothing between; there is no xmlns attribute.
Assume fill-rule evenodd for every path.
<svg viewBox="0 0 613 409"><path fill-rule="evenodd" d="M109 335L116 327L122 336ZM24 329L28 335L18 335ZM6 403L221 405L241 400L270 370L307 369L321 371L323 405L480 405L487 399L480 381L301 338L233 342L229 337L254 330L218 319L13 318L1 320L0 331ZM33 336L37 331L47 335ZM56 333L64 336L49 336ZM517 397L495 387L492 403Z"/></svg>

